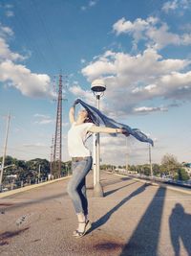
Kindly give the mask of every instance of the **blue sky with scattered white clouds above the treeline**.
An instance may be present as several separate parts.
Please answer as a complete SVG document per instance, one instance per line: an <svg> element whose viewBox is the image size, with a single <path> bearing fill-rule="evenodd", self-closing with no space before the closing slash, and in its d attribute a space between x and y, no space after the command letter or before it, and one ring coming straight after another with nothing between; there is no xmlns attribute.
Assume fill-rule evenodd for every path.
<svg viewBox="0 0 191 256"><path fill-rule="evenodd" d="M0 0L0 154L50 160L58 76L63 76L62 160L77 98L191 162L191 0ZM101 163L144 164L148 144L101 134ZM91 142L90 142L91 145Z"/></svg>

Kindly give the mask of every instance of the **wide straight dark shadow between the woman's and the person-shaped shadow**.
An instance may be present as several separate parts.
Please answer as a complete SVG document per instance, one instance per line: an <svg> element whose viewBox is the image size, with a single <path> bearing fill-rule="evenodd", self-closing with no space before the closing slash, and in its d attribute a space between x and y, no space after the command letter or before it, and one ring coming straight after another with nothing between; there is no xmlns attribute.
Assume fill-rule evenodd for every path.
<svg viewBox="0 0 191 256"><path fill-rule="evenodd" d="M160 222L165 192L165 188L158 189L146 212L138 222L132 237L123 247L120 256L158 255Z"/></svg>

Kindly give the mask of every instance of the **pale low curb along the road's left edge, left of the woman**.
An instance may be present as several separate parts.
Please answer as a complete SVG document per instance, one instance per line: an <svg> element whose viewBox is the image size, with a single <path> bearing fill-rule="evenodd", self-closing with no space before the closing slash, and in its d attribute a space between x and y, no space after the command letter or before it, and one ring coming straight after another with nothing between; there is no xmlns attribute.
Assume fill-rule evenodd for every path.
<svg viewBox="0 0 191 256"><path fill-rule="evenodd" d="M14 189L14 190L11 190L11 191L8 191L8 192L3 192L3 193L0 193L0 198L7 198L7 197L10 197L10 196L12 196L14 194L25 192L25 191L28 191L28 190L31 190L31 189L35 189L35 188L38 188L38 187L42 187L42 186L45 186L45 185L49 185L49 184L52 184L53 182L57 182L57 181L60 181L60 180L67 179L70 176L71 175L60 177L60 178L53 179L53 180L49 180L49 181L42 182L42 183L39 183L39 184L29 185L29 186L26 186L26 187L23 187L23 188L19 188L19 189Z"/></svg>

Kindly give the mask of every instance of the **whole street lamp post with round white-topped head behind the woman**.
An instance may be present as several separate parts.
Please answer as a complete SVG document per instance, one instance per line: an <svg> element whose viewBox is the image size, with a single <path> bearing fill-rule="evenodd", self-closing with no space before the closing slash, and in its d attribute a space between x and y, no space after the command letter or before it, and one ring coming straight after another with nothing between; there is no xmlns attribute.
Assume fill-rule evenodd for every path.
<svg viewBox="0 0 191 256"><path fill-rule="evenodd" d="M103 96L106 86L104 81L95 80L91 84L91 89L96 96L96 107L99 109L99 100ZM103 189L100 184L100 139L99 133L94 136L94 196L97 198L103 198Z"/></svg>

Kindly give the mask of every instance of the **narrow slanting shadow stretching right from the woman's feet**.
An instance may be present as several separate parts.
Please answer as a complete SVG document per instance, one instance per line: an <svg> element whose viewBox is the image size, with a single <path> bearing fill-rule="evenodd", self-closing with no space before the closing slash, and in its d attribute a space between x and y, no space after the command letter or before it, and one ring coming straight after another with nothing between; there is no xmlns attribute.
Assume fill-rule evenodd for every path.
<svg viewBox="0 0 191 256"><path fill-rule="evenodd" d="M97 221L95 221L93 223L93 226L90 230L93 231L95 230L96 228L98 228L99 226L103 225L105 222L107 222L110 217L125 203L127 202L128 200L130 200L131 198L134 198L136 196L138 196L138 194L144 192L144 190L146 189L148 185L147 184L144 184L142 185L141 187L139 187L136 191L134 191L132 194L130 194L128 197L126 198L123 198L119 203L117 203L117 205L111 209L108 213L106 213L104 216L102 216L100 219L98 219Z"/></svg>

